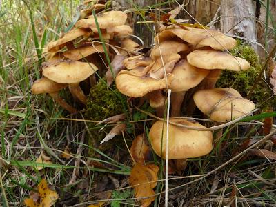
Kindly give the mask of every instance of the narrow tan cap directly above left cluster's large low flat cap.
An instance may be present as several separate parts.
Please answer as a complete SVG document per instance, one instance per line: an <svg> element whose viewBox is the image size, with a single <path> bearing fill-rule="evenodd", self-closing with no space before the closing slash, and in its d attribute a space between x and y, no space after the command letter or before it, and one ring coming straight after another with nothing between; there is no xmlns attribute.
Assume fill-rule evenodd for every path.
<svg viewBox="0 0 276 207"><path fill-rule="evenodd" d="M78 61L79 59L87 57L88 55L92 55L96 52L104 52L103 46L101 44L95 43L95 46L81 46L79 48L68 50L64 52L63 55L68 59Z"/></svg>

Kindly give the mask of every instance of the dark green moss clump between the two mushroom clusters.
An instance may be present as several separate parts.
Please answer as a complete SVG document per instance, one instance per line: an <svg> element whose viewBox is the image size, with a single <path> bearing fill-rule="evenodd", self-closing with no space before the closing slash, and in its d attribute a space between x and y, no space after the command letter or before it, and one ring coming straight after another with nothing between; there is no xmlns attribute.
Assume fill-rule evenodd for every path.
<svg viewBox="0 0 276 207"><path fill-rule="evenodd" d="M119 91L114 85L110 89L107 88L106 83L99 81L96 86L90 89L86 109L84 110L85 118L93 121L102 121L108 117L123 113L123 107L118 96ZM89 127L93 136L93 140L89 140L91 146L99 144L112 128L108 126L99 132L101 126L97 127L95 124L89 124Z"/></svg>

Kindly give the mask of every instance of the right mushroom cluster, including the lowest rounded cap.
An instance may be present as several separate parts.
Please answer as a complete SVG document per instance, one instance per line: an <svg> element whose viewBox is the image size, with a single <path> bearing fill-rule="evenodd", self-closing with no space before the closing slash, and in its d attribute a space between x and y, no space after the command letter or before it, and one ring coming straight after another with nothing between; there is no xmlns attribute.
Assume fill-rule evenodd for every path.
<svg viewBox="0 0 276 207"><path fill-rule="evenodd" d="M219 30L163 26L155 37L155 46L150 55L138 55L124 60L126 70L121 70L117 75L116 86L124 95L146 97L159 117L164 116L164 94L170 89L170 117L181 116L182 103L192 106L190 108L195 103L213 121L237 119L254 110L255 104L244 99L233 88L215 88L221 70L239 72L250 68L248 61L228 53L227 50L236 45L235 39ZM204 128L196 121L175 118L170 121ZM166 149L166 141L163 140L166 127L162 126L162 121L155 122L149 133L152 148L160 157ZM211 132L197 132L173 124L169 124L168 132L169 159L199 157L212 150Z"/></svg>

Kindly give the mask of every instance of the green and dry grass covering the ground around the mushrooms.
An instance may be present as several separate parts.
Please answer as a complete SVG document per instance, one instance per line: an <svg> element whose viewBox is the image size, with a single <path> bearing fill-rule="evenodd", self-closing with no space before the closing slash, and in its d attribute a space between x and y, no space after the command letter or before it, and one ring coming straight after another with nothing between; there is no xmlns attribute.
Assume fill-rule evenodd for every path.
<svg viewBox="0 0 276 207"><path fill-rule="evenodd" d="M114 145L110 155L89 146L88 122L76 121L79 117L68 115L49 96L34 96L30 92L33 81L41 76L43 47L72 26L70 23L76 21L80 2L24 2L3 1L0 10L0 206L23 206L23 200L43 177L59 193L56 206L85 206L106 201L97 193L113 190L107 187L112 181L119 181L120 185L106 202L111 206L134 205L132 188L125 182L132 162L130 156L128 159L121 156L122 151L127 152L126 146ZM150 8L158 6L168 6L168 2ZM140 8L135 6L135 10ZM271 17L268 10L266 37L270 34ZM125 100L121 99L128 109L130 106ZM262 122L253 121L275 115L276 112L270 112L246 117L241 123L228 126L222 139L215 141L215 150L210 155L189 159L183 175L169 177L172 206L235 206L235 203L237 206L275 206L275 160L250 155L248 146L243 146L246 140L264 140L259 148L275 152L275 144L262 134ZM139 120L147 118L151 117L136 113L135 121L131 116L128 121L132 128L139 126L148 134L152 120ZM126 133L126 142L129 144L134 137L133 133ZM61 157L66 148L70 148L70 159ZM51 157L52 164L35 162L41 150ZM88 155L90 151L95 157ZM155 163L162 168L159 157L155 157ZM35 170L37 166L45 169ZM152 206L164 204L163 177L160 173L155 188L157 199Z"/></svg>

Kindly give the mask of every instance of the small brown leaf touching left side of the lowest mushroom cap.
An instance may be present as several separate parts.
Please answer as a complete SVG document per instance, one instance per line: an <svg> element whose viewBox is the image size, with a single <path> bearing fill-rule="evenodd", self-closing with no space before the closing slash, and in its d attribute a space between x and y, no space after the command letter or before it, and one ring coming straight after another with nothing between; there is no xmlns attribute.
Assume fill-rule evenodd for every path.
<svg viewBox="0 0 276 207"><path fill-rule="evenodd" d="M139 164L144 164L146 161L148 161L148 158L150 157L150 147L146 144L146 139L143 134L138 135L132 141L130 154Z"/></svg>

